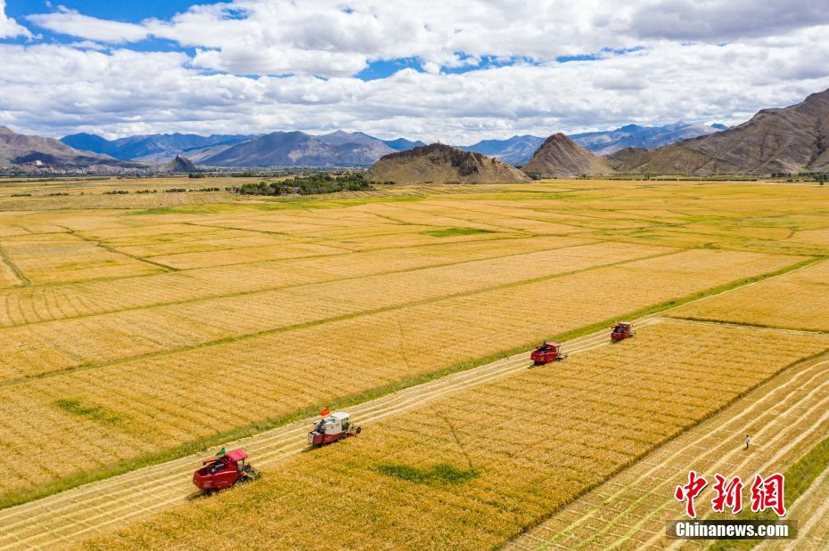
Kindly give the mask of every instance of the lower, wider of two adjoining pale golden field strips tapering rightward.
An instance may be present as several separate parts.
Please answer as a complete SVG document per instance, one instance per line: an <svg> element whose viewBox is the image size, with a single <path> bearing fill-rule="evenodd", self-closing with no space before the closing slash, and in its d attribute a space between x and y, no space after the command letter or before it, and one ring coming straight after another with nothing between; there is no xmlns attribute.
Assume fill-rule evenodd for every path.
<svg viewBox="0 0 829 551"><path fill-rule="evenodd" d="M669 252L639 245L585 245L4 328L0 384Z"/></svg>

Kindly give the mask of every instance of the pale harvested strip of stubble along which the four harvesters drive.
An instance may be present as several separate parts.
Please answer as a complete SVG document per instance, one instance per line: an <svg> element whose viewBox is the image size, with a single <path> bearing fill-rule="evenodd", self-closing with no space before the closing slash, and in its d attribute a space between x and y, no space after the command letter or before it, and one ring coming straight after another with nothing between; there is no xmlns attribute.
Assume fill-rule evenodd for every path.
<svg viewBox="0 0 829 551"><path fill-rule="evenodd" d="M644 328L660 321L651 316L639 320L636 326ZM564 350L568 353L586 352L605 344L610 344L610 339L607 330L602 330L564 343ZM349 411L360 425L370 425L449 393L519 373L528 369L527 358L528 353L521 352L479 368L366 401L350 407ZM227 446L244 447L250 452L254 465L267 468L308 450L305 434L311 422L311 418L304 419L228 443ZM199 465L203 457L204 454L191 455L144 467L0 511L0 549L57 546L197 497L190 478L194 466Z"/></svg>

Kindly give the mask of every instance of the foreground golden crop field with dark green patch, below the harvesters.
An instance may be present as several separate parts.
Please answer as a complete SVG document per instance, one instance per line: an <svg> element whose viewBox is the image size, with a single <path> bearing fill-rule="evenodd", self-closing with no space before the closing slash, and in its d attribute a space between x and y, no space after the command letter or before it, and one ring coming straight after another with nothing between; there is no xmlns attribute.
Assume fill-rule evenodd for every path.
<svg viewBox="0 0 829 551"><path fill-rule="evenodd" d="M85 547L232 541L322 549L330 542L316 531L321 512L326 523L359 527L342 531L339 547L497 547L827 346L820 336L658 324L642 329L636 343L584 352L379 421L359 438L291 458L256 484ZM778 352L772 361L769 347Z"/></svg>

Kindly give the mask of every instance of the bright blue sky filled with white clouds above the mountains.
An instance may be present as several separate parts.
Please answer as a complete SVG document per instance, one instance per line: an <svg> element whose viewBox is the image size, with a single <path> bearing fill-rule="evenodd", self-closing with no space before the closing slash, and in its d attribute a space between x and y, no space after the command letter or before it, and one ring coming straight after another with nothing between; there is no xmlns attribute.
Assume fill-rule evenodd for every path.
<svg viewBox="0 0 829 551"><path fill-rule="evenodd" d="M735 124L829 87L821 4L0 0L0 125L464 143Z"/></svg>

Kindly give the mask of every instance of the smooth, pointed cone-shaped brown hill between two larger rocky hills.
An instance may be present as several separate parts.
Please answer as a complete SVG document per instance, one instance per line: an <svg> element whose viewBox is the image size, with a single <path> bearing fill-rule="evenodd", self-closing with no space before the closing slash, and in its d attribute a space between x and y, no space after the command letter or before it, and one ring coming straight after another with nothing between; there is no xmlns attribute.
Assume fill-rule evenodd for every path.
<svg viewBox="0 0 829 551"><path fill-rule="evenodd" d="M523 169L528 174L564 177L613 172L604 158L584 149L564 134L553 134L547 138Z"/></svg>

